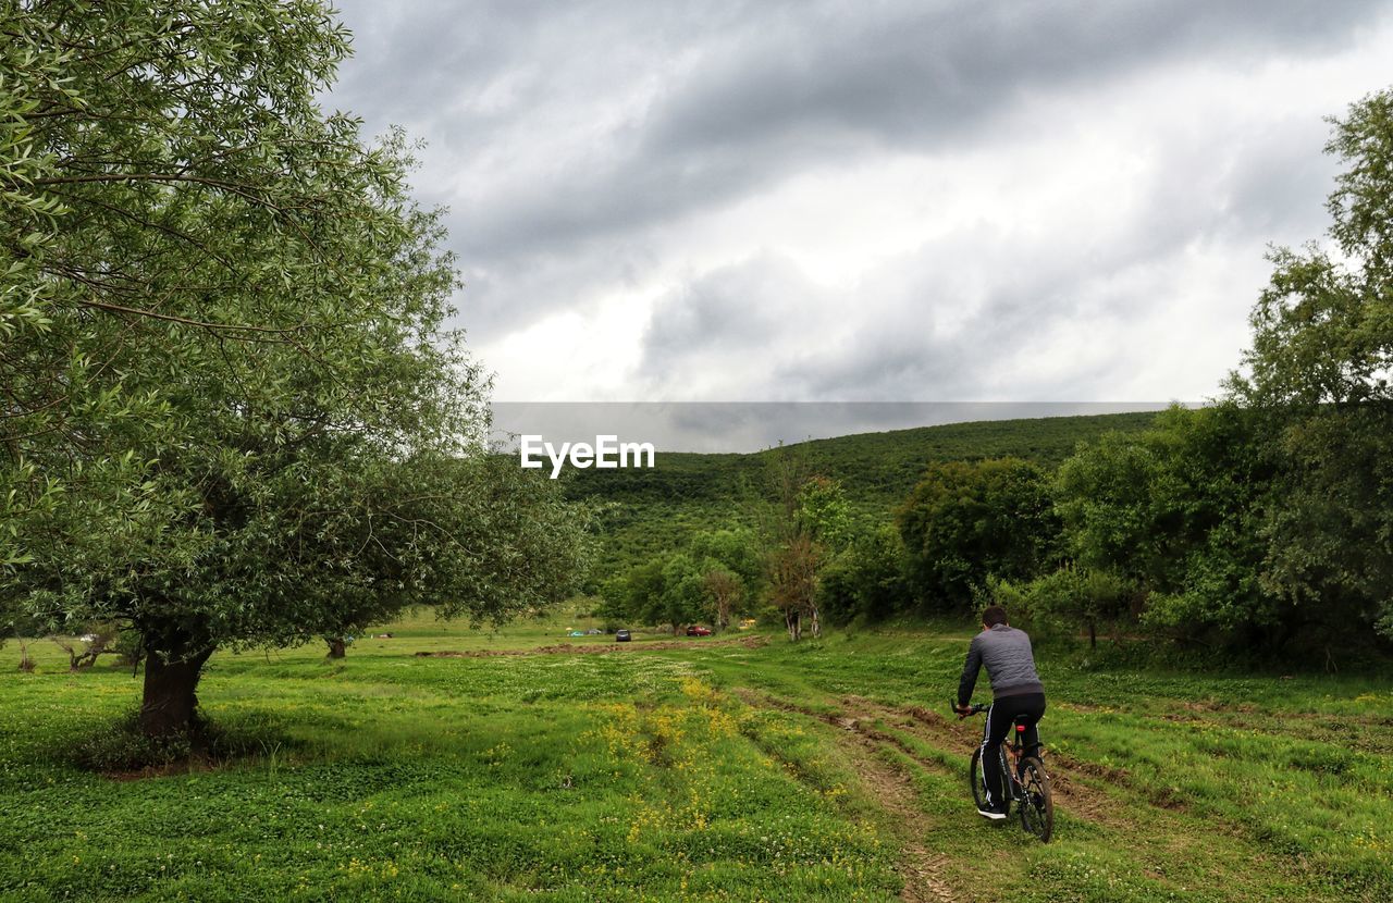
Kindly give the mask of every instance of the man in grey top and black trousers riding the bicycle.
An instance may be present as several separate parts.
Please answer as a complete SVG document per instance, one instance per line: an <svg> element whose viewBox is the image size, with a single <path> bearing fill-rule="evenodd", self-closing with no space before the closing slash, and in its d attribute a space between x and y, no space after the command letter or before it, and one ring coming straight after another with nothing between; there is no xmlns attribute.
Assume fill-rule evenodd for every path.
<svg viewBox="0 0 1393 903"><path fill-rule="evenodd" d="M986 665L986 676L992 681L992 708L986 712L982 729L982 771L986 778L986 805L978 812L986 818L1006 818L1006 793L1002 787L1002 741L1010 733L1017 718L1025 718L1024 746L1031 755L1036 754L1041 737L1035 727L1045 715L1045 686L1035 672L1035 655L1031 652L1031 638L1024 630L1006 623L1006 609L1000 605L988 606L982 612L982 633L972 637L967 651L967 665L958 681L958 715L971 712L972 687L978 670Z"/></svg>

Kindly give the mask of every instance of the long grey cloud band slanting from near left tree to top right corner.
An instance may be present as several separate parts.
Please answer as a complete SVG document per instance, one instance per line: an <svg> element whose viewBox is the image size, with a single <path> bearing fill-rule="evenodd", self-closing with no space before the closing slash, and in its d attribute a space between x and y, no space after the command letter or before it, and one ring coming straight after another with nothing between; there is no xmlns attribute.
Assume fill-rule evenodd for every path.
<svg viewBox="0 0 1393 903"><path fill-rule="evenodd" d="M1316 11L1291 0L1265 4L1261 17L1240 3L866 8L775 6L731 24L729 35L687 35L699 61L662 77L644 118L461 213L465 258L581 251L596 237L671 222L814 162L886 145L961 148L1027 98L1087 91L1178 57L1222 52L1227 65L1244 65L1259 52L1328 52L1373 4ZM666 35L653 50L677 46Z"/></svg>

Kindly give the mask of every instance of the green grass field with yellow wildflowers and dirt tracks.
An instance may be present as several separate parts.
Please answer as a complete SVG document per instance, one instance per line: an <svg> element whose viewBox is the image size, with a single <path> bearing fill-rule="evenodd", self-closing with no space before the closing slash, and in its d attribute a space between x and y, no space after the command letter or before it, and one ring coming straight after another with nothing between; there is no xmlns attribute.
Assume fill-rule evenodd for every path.
<svg viewBox="0 0 1393 903"><path fill-rule="evenodd" d="M68 764L130 672L38 644L21 674L11 642L0 899L1393 899L1387 680L1045 656L1041 844L972 811L981 722L940 715L967 633L586 654L571 626L219 654L202 704L255 754L143 778ZM503 654L415 655L453 649Z"/></svg>

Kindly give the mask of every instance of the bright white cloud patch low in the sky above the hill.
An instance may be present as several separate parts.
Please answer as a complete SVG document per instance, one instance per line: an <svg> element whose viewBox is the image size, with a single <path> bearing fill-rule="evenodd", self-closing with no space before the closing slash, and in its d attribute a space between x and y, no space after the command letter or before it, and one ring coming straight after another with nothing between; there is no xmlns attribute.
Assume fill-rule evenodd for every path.
<svg viewBox="0 0 1393 903"><path fill-rule="evenodd" d="M1066 327L1070 355L1109 326L1126 329L1138 314L1163 304L1165 287L1133 294L1109 291L1109 276L1158 261L1177 262L1219 201L1208 206L1176 198L1174 185L1152 187L1146 209L1172 203L1159 223L1106 237L1052 234L1028 242L978 226L885 262L854 297L832 297L787 261L754 258L738 268L702 275L664 297L645 336L646 393L680 393L688 361L719 360L749 348L763 361L748 387L730 397L827 399L848 403L932 401L993 397L1003 392L1035 400L1109 394L1109 373L1126 368L1135 350L1109 348L1094 364L1074 364L1066 380L1003 383L1003 366L1041 351L1042 336ZM1216 236L1230 247L1231 236ZM1159 279L1160 276L1158 276ZM812 300L829 329L800 330L790 300ZM1241 316L1252 297L1233 298ZM1215 378L1222 373L1216 372ZM1152 399L1153 400L1153 399Z"/></svg>

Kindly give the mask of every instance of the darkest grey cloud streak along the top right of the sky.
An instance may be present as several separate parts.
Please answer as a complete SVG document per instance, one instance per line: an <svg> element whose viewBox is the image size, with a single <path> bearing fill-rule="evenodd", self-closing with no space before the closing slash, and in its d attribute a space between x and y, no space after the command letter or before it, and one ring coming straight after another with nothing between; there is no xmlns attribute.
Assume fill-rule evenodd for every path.
<svg viewBox="0 0 1393 903"><path fill-rule="evenodd" d="M787 132L862 132L939 145L1022 95L1222 52L1329 52L1379 3L819 4L781 17L674 92L648 145L659 153Z"/></svg>

